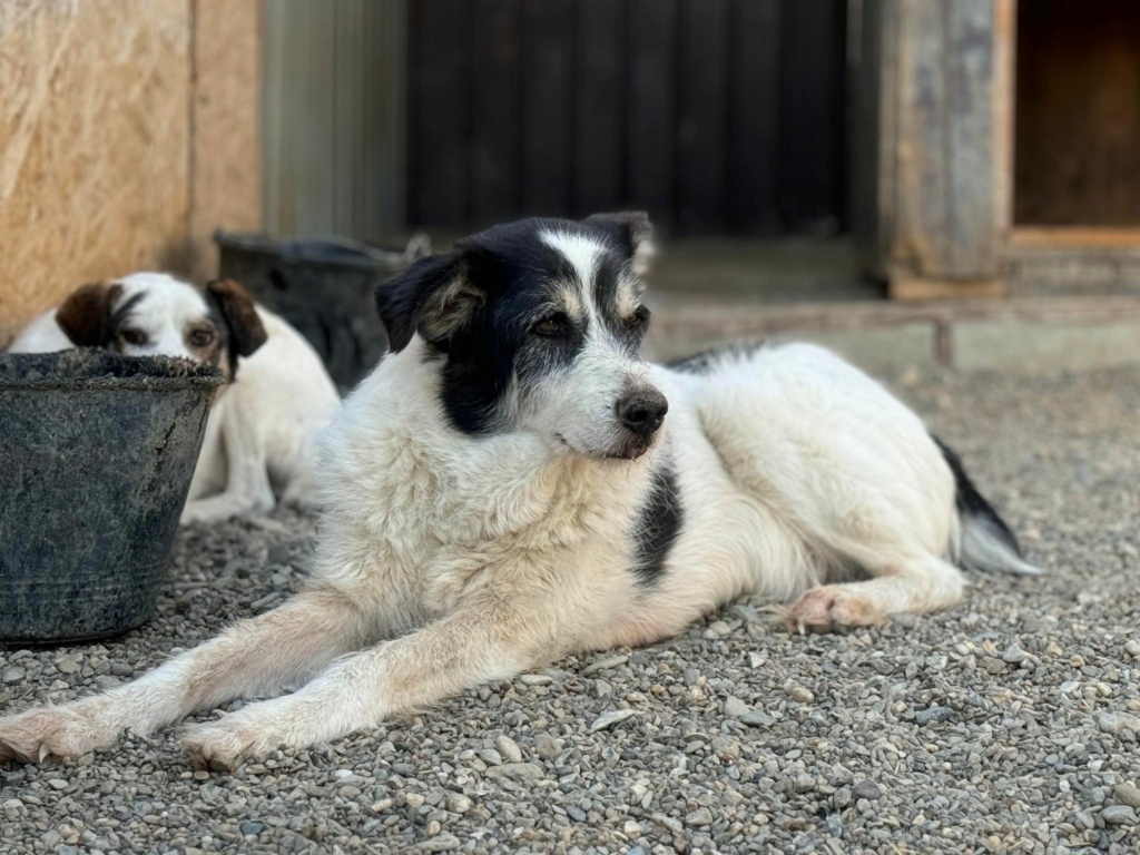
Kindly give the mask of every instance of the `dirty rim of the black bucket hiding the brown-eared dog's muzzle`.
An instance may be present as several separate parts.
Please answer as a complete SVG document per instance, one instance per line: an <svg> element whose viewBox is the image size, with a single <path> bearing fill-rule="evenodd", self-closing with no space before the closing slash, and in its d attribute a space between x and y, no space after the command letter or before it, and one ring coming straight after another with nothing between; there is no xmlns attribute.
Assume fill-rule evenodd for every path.
<svg viewBox="0 0 1140 855"><path fill-rule="evenodd" d="M55 353L0 353L0 391L214 390L221 370L176 357L127 357L99 348Z"/></svg>

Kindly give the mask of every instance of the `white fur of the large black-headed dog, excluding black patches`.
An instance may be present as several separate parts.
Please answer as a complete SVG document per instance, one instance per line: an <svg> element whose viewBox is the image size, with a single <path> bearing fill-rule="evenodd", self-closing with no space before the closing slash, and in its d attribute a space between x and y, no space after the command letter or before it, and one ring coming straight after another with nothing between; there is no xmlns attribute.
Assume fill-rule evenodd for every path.
<svg viewBox="0 0 1140 855"><path fill-rule="evenodd" d="M0 719L0 757L76 756L124 727L278 695L186 732L197 762L233 766L571 651L668 637L746 592L798 596L791 622L820 629L962 596L939 449L825 350L762 348L685 374L598 340L584 349L588 369L555 377L523 429L467 437L447 424L426 347L414 337L385 358L325 434L326 512L304 593L130 685ZM628 383L665 393L665 427L636 461L594 456ZM560 398L575 401L540 417ZM630 572L632 528L667 459L684 521L666 571L645 584ZM842 581L854 567L870 578Z"/></svg>

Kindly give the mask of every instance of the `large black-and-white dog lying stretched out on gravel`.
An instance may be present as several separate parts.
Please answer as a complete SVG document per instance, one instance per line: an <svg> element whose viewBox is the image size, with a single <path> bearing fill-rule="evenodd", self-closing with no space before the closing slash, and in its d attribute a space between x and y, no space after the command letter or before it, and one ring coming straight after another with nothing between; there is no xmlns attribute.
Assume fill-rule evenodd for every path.
<svg viewBox="0 0 1140 855"><path fill-rule="evenodd" d="M641 361L649 251L640 213L524 220L382 286L391 353L325 435L308 588L129 685L0 719L0 754L76 757L277 695L185 732L233 767L747 592L798 595L790 621L825 630L953 605L962 567L1036 572L958 458L825 350Z"/></svg>

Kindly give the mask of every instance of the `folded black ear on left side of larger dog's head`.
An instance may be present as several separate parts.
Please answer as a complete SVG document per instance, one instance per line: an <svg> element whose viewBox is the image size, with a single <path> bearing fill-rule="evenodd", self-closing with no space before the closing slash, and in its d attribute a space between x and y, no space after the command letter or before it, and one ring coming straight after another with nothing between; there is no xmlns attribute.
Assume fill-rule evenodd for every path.
<svg viewBox="0 0 1140 855"><path fill-rule="evenodd" d="M414 333L442 344L484 300L469 278L467 256L459 251L420 259L376 288L376 311L393 353L408 347Z"/></svg>

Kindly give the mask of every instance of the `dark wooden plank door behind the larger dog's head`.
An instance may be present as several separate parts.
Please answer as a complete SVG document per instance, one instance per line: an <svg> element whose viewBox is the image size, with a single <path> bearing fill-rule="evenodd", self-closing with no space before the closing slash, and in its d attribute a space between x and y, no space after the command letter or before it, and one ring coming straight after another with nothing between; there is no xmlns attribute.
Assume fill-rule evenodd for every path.
<svg viewBox="0 0 1140 855"><path fill-rule="evenodd" d="M410 0L408 219L846 228L847 0Z"/></svg>

